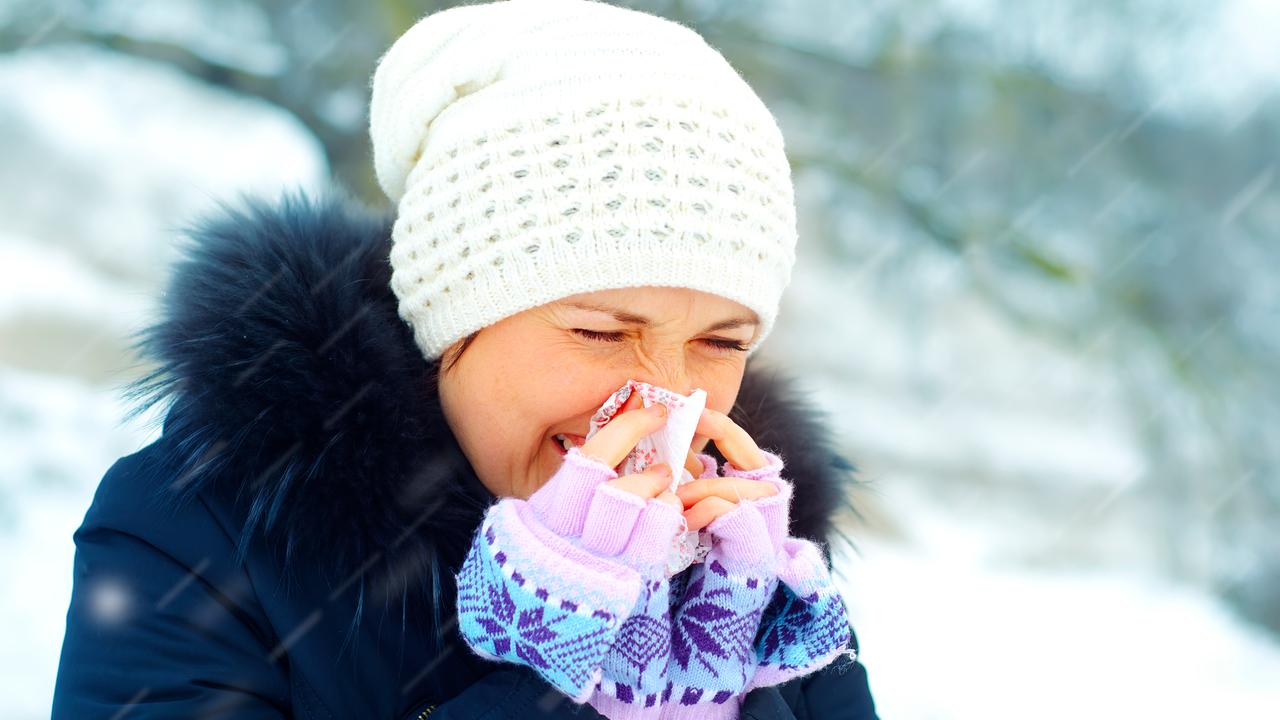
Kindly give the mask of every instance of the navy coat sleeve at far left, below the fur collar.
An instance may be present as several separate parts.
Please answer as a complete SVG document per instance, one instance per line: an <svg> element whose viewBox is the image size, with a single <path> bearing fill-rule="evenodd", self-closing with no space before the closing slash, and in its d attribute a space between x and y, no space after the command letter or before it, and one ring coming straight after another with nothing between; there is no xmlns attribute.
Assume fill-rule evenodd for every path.
<svg viewBox="0 0 1280 720"><path fill-rule="evenodd" d="M164 491L165 445L116 460L73 536L55 719L127 712L142 696L147 717L200 716L230 696L262 716L289 703L269 652L279 637L225 528L202 501L173 505ZM179 647L182 662L157 662Z"/></svg>

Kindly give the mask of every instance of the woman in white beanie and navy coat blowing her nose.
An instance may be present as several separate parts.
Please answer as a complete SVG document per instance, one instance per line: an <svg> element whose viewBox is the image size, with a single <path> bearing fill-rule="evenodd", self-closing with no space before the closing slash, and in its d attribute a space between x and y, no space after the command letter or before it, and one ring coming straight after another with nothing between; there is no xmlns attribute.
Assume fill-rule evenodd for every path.
<svg viewBox="0 0 1280 720"><path fill-rule="evenodd" d="M777 127L732 68L687 28L603 4L461 6L381 59L371 135L394 211L337 192L247 199L193 227L142 338L157 366L132 388L136 411L170 402L163 433L110 468L74 536L52 716L876 717L847 623L851 652L753 675L755 659L791 660L787 642L817 637L782 548L820 548L813 577L829 587L851 468L815 411L749 363L795 228ZM575 446L628 380L708 391L686 462L703 479L680 493L653 469L611 470L663 421L634 404ZM755 687L722 688L714 707L713 693L681 707L686 692L628 710L609 705L622 684L600 674L631 657L618 625L591 659L549 669L527 652L545 630L525 633L541 607L508 625L480 616L467 593L520 584L486 574L492 538L512 556L579 561L571 573L644 577L675 616L692 612L678 601L714 564L668 583L641 573L630 525L599 534L626 543L605 551L557 524L573 520L557 493L575 468L641 519L712 530L781 518L777 546L712 551L772 564L768 607L718 635L750 651L736 670ZM531 519L497 524L508 511ZM636 600L618 621L649 610L635 584L563 584L564 600ZM566 692L584 670L593 683Z"/></svg>

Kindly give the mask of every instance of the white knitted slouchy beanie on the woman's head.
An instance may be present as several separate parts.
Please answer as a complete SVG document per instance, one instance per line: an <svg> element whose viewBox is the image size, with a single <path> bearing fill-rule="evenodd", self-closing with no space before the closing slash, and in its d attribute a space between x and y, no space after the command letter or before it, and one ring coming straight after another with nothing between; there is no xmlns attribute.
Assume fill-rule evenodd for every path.
<svg viewBox="0 0 1280 720"><path fill-rule="evenodd" d="M399 315L434 360L508 315L596 290L671 286L756 313L795 264L773 115L695 31L594 0L421 18L381 56L370 135L398 205Z"/></svg>

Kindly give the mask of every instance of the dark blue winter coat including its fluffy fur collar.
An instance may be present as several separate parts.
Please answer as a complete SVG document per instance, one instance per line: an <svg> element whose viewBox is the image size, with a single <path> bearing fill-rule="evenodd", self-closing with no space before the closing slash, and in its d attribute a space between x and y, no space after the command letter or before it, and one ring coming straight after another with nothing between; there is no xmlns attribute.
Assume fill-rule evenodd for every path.
<svg viewBox="0 0 1280 720"><path fill-rule="evenodd" d="M168 405L163 434L74 534L54 720L600 717L457 633L454 573L497 498L397 314L392 220L335 191L191 228L129 388L136 411ZM754 361L732 416L788 459L792 534L832 541L855 480L824 419ZM742 717L876 711L841 657Z"/></svg>

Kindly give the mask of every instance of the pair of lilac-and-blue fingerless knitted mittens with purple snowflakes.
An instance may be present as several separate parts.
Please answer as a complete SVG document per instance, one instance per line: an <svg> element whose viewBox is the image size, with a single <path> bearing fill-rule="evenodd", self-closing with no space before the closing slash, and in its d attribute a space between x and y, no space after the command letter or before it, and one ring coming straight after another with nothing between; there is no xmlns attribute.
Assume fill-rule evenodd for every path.
<svg viewBox="0 0 1280 720"><path fill-rule="evenodd" d="M707 525L705 562L668 582L680 512L603 484L617 474L571 450L527 502L486 512L458 575L463 638L614 720L733 719L750 689L826 666L849 643L845 607L818 547L787 536L792 486L763 452L724 477L778 492Z"/></svg>

